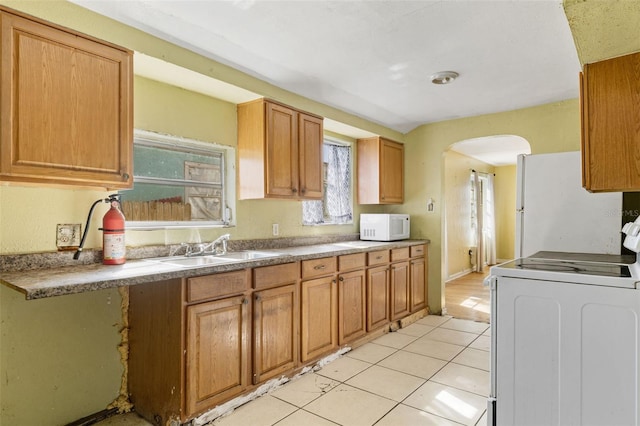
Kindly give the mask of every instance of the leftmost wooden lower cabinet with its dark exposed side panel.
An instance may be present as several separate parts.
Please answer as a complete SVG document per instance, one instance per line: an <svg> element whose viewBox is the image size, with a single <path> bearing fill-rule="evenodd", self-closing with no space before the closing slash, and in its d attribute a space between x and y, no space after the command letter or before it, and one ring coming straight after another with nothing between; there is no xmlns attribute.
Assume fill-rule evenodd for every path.
<svg viewBox="0 0 640 426"><path fill-rule="evenodd" d="M184 423L249 386L249 270L129 288L128 387L154 424Z"/></svg>

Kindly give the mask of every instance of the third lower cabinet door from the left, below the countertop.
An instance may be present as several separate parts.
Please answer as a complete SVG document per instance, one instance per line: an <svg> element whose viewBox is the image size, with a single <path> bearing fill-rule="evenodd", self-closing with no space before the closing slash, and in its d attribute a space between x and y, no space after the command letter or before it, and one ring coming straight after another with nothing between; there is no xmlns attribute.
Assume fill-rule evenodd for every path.
<svg viewBox="0 0 640 426"><path fill-rule="evenodd" d="M302 361L338 347L338 292L334 275L302 282Z"/></svg>

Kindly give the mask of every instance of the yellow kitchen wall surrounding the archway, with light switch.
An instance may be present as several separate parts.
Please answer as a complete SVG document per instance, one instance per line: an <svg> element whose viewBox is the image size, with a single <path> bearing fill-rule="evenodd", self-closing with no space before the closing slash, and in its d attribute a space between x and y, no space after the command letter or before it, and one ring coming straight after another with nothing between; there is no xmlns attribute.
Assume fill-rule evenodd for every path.
<svg viewBox="0 0 640 426"><path fill-rule="evenodd" d="M403 209L411 214L413 238L429 238L429 306L441 312L446 271L442 268L444 232L443 154L466 139L493 135L516 135L531 145L531 153L580 149L580 109L577 99L516 111L425 124L405 137L407 161L406 198ZM410 177L410 178L409 178ZM436 200L436 212L425 213L426 200Z"/></svg>

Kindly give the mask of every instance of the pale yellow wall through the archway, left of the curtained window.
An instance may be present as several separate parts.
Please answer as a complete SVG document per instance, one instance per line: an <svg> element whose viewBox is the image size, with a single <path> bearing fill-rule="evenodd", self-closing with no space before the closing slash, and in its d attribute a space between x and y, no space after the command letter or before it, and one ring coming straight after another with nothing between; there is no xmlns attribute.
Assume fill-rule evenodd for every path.
<svg viewBox="0 0 640 426"><path fill-rule="evenodd" d="M471 270L469 247L475 245L471 230L471 170L494 173L495 167L455 151L444 154L446 279Z"/></svg>

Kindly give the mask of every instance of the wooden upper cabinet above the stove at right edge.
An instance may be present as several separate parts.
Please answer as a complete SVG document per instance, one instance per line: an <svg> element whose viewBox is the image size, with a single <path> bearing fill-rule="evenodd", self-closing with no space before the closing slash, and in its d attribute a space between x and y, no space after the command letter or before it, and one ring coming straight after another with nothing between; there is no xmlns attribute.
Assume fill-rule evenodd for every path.
<svg viewBox="0 0 640 426"><path fill-rule="evenodd" d="M640 191L640 53L586 64L580 93L582 185Z"/></svg>

